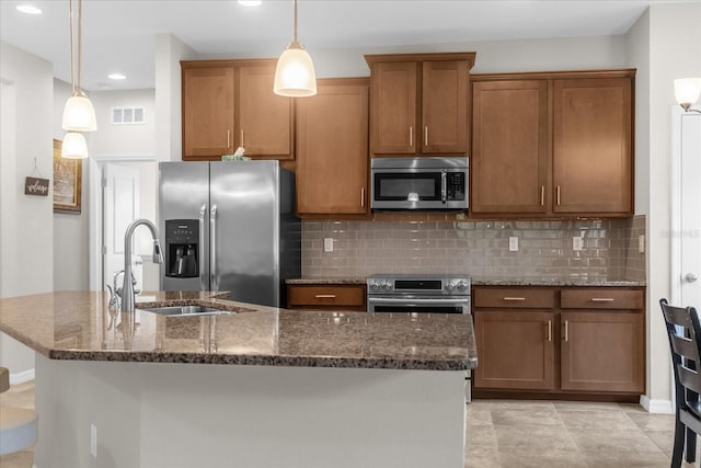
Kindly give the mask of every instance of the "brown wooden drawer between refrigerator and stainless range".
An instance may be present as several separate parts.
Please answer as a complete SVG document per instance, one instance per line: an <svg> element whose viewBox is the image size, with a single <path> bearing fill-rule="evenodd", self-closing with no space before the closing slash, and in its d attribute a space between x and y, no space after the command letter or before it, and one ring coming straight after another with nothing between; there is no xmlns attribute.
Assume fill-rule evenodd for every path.
<svg viewBox="0 0 701 468"><path fill-rule="evenodd" d="M333 286L306 286L294 285L288 287L288 307L350 307L365 308L364 285L333 285Z"/></svg>

